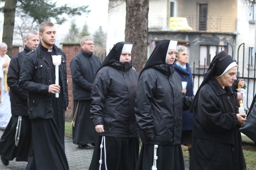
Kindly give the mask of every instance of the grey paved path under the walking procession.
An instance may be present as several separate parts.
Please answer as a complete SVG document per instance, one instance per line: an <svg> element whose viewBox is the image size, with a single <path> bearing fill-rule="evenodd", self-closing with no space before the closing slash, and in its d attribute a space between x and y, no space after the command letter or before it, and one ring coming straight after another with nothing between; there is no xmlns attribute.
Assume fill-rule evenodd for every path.
<svg viewBox="0 0 256 170"><path fill-rule="evenodd" d="M0 131L0 136L2 136L2 134L3 134L3 131ZM68 159L69 169L70 170L76 170L76 169L88 170L91 163L91 157L93 156L94 147L91 146L91 148L92 149L88 149L88 150L78 149L77 145L73 144L72 138L66 136L65 151ZM16 162L15 159L10 161L10 164L8 166L4 166L0 161L0 169L25 170L26 166L27 166L27 162ZM185 170L188 170L189 169L188 167L189 167L188 160L185 160Z"/></svg>

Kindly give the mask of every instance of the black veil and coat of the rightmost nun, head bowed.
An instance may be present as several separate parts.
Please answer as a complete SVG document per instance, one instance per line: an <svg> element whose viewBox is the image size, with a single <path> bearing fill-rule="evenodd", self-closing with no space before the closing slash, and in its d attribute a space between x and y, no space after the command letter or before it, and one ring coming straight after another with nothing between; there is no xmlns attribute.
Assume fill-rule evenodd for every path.
<svg viewBox="0 0 256 170"><path fill-rule="evenodd" d="M190 108L194 122L190 170L246 169L237 124L237 98L231 87L223 89L214 77L222 75L233 62L230 55L215 62Z"/></svg>

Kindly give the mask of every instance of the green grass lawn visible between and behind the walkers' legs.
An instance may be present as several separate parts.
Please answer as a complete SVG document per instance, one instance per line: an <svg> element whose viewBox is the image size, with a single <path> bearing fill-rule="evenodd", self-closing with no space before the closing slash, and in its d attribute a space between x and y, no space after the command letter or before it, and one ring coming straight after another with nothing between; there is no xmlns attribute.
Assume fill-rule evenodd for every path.
<svg viewBox="0 0 256 170"><path fill-rule="evenodd" d="M72 136L72 126L71 122L65 122L65 135L67 136ZM243 143L243 153L244 153L244 158L246 162L246 168L247 170L255 170L256 169L256 145L254 145L254 142L249 139L246 136L242 136L242 140L245 141ZM186 159L189 159L189 153L187 146L182 145L182 150L183 150L183 157Z"/></svg>

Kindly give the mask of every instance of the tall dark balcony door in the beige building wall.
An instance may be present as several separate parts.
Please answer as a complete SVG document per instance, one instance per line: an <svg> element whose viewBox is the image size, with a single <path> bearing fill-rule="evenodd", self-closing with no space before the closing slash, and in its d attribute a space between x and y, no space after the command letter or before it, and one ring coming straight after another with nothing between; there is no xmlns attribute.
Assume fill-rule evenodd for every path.
<svg viewBox="0 0 256 170"><path fill-rule="evenodd" d="M199 18L198 18L198 29L200 31L207 30L207 11L208 11L208 4L199 4Z"/></svg>

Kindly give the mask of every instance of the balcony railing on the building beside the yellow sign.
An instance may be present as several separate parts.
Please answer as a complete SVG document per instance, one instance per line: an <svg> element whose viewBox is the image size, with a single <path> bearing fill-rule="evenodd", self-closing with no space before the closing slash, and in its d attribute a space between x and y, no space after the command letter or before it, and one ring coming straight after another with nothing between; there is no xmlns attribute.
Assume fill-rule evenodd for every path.
<svg viewBox="0 0 256 170"><path fill-rule="evenodd" d="M197 16L181 16L187 18L188 26L193 30L187 31L207 31L207 32L236 32L237 18L225 16L207 16L200 18ZM148 16L149 31L170 31L169 17Z"/></svg>

